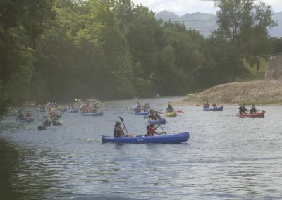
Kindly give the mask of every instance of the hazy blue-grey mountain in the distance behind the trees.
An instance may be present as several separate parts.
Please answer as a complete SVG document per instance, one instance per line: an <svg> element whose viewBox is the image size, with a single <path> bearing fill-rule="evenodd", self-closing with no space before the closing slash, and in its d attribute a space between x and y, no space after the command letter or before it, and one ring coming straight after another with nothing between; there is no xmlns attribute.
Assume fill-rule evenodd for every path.
<svg viewBox="0 0 282 200"><path fill-rule="evenodd" d="M175 13L164 10L157 13L156 18L161 18L165 21L183 21L186 27L199 30L204 37L209 37L211 32L218 28L218 25L216 24L216 15L208 13L197 12L178 16ZM278 27L274 27L274 29L269 30L269 34L272 37L282 37L282 12L275 13L273 15L273 19L278 23Z"/></svg>

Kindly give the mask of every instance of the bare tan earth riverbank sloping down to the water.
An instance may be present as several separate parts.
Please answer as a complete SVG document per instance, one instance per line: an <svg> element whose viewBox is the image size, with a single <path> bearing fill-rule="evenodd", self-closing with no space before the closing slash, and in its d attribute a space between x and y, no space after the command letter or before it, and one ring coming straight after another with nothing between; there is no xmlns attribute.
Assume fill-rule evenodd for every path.
<svg viewBox="0 0 282 200"><path fill-rule="evenodd" d="M168 102L171 106L202 106L205 102L216 103L220 106L238 106L240 104L256 104L282 106L282 82L252 81L233 82L216 85L210 89L189 96L183 101Z"/></svg>

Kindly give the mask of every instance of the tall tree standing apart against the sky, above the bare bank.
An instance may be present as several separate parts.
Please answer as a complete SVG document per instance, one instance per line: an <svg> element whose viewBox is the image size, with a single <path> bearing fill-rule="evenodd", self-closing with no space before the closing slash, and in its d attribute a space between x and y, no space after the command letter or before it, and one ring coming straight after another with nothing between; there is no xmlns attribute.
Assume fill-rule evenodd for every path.
<svg viewBox="0 0 282 200"><path fill-rule="evenodd" d="M227 46L228 54L233 57L228 66L232 82L240 75L243 59L251 65L257 63L258 57L266 56L272 51L269 44L268 29L277 24L272 20L271 6L254 0L214 0L219 8L216 12L219 29L213 35L219 37Z"/></svg>

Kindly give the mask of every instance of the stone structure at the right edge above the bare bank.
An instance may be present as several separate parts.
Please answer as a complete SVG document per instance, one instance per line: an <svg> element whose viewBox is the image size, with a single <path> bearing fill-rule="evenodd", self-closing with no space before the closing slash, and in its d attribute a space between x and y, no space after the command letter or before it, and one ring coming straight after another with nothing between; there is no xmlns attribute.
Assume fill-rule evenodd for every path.
<svg viewBox="0 0 282 200"><path fill-rule="evenodd" d="M269 56L265 78L269 80L282 80L282 53Z"/></svg>

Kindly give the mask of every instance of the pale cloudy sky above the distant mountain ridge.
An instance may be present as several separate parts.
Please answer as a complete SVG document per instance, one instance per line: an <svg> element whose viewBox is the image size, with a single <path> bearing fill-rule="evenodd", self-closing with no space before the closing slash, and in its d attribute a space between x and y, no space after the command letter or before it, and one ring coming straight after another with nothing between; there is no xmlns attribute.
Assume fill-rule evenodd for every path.
<svg viewBox="0 0 282 200"><path fill-rule="evenodd" d="M272 6L274 12L282 11L282 0L262 0ZM186 13L216 13L213 1L200 0L133 0L135 4L142 4L149 7L155 13L160 11L170 11L176 15L185 15Z"/></svg>

